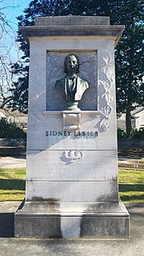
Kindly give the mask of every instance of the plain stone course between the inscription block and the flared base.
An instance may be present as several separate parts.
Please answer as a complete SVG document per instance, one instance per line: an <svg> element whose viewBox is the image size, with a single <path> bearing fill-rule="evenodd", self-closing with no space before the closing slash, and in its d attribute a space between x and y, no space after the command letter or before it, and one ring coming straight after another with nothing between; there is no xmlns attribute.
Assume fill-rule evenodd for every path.
<svg viewBox="0 0 144 256"><path fill-rule="evenodd" d="M59 202L118 202L117 181L27 181L26 200L50 200ZM38 200L39 201L39 200Z"/></svg>

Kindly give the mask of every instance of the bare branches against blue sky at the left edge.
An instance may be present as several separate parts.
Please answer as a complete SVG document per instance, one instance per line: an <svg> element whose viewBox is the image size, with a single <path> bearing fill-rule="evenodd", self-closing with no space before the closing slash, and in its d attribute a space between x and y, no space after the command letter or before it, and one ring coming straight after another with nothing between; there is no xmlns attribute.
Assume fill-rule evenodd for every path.
<svg viewBox="0 0 144 256"><path fill-rule="evenodd" d="M18 48L14 42L16 31L6 14L14 8L16 6L9 6L6 1L0 1L0 108L6 107L6 104L13 100L13 73L10 66L14 60L13 51L16 57Z"/></svg>

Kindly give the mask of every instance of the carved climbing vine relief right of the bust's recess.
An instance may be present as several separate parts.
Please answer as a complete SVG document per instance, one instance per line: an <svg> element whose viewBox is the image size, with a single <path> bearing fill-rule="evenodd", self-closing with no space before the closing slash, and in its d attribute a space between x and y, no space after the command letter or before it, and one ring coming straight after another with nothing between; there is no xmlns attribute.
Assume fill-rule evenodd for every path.
<svg viewBox="0 0 144 256"><path fill-rule="evenodd" d="M99 126L103 131L106 131L110 128L108 120L112 111L110 102L113 100L113 97L110 95L110 87L114 83L114 70L111 68L112 57L109 52L106 52L106 56L102 57L102 61L105 65L101 70L104 79L99 80L99 110L102 111L102 119Z"/></svg>

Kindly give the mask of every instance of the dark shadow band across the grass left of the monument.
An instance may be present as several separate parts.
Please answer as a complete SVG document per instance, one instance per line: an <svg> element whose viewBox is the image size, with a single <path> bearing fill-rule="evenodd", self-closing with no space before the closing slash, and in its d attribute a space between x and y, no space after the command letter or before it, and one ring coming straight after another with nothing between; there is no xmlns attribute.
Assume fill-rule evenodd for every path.
<svg viewBox="0 0 144 256"><path fill-rule="evenodd" d="M22 179L0 179L1 190L25 190L26 182Z"/></svg>

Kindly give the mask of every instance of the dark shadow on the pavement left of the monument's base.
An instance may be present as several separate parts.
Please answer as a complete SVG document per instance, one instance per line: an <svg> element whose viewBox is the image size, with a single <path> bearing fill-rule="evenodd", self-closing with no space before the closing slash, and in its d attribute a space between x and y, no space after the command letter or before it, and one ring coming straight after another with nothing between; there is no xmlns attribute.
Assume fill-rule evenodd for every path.
<svg viewBox="0 0 144 256"><path fill-rule="evenodd" d="M14 238L14 213L0 214L0 238Z"/></svg>

